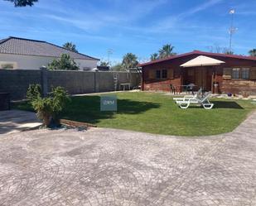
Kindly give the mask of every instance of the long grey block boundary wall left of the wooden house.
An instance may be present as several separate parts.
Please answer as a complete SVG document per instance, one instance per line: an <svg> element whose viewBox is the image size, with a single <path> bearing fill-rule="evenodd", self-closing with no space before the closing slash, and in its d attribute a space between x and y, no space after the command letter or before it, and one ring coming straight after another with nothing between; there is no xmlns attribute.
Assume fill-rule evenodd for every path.
<svg viewBox="0 0 256 206"><path fill-rule="evenodd" d="M118 89L122 83L130 83L132 88L140 84L138 73L0 69L0 93L11 93L12 100L21 100L26 98L29 84L41 84L44 93L56 86L70 94L108 92L114 91L114 76L118 78Z"/></svg>

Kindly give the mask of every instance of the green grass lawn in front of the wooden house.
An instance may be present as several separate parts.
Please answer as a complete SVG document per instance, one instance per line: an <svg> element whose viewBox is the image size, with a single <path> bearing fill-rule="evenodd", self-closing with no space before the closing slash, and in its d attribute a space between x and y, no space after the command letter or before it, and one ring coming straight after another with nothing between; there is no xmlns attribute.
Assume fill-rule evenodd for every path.
<svg viewBox="0 0 256 206"><path fill-rule="evenodd" d="M215 107L181 109L162 93L117 93L118 112L100 112L100 95L74 97L63 118L139 132L205 136L231 132L256 108L250 100L212 99ZM27 103L14 108L31 110Z"/></svg>

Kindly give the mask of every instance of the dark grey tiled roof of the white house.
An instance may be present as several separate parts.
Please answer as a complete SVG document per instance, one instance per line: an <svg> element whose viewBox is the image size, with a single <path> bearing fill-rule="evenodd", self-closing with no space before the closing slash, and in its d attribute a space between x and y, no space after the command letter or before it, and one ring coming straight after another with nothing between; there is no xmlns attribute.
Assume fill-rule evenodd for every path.
<svg viewBox="0 0 256 206"><path fill-rule="evenodd" d="M10 36L7 39L0 40L0 54L14 55L36 55L60 57L61 54L69 54L73 59L80 60L99 60L89 55L83 55L61 46L48 43L46 41L36 41Z"/></svg>

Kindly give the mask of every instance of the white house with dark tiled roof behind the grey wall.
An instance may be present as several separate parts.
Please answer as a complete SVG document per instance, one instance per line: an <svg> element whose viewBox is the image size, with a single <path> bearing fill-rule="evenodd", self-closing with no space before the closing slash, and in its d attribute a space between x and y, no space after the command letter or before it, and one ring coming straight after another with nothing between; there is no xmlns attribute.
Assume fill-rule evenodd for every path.
<svg viewBox="0 0 256 206"><path fill-rule="evenodd" d="M0 40L0 69L40 69L61 54L69 54L80 70L97 68L99 59L83 55L46 41L18 37Z"/></svg>

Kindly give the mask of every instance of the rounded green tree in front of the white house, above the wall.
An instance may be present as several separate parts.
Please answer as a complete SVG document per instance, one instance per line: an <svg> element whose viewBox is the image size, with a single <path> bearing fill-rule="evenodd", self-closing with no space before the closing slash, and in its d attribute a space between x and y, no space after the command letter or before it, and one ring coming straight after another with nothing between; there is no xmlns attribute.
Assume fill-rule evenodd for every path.
<svg viewBox="0 0 256 206"><path fill-rule="evenodd" d="M76 65L75 60L70 58L68 54L62 54L60 59L53 60L49 65L48 69L56 70L78 70L79 67Z"/></svg>

